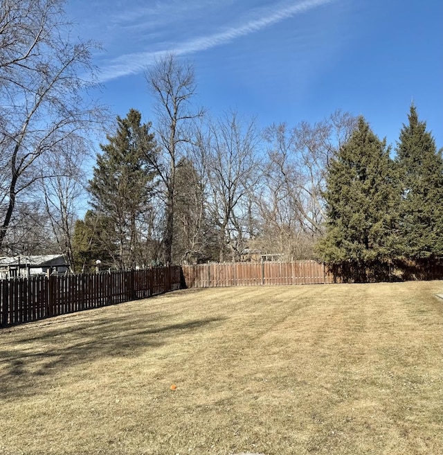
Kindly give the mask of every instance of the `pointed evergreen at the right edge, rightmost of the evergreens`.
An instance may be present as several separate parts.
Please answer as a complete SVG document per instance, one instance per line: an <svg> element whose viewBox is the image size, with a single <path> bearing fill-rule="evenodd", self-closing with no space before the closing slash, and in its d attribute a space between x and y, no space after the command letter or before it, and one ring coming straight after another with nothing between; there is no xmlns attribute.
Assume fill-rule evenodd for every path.
<svg viewBox="0 0 443 455"><path fill-rule="evenodd" d="M399 253L413 260L443 256L443 159L426 122L410 106L397 143L401 184Z"/></svg>

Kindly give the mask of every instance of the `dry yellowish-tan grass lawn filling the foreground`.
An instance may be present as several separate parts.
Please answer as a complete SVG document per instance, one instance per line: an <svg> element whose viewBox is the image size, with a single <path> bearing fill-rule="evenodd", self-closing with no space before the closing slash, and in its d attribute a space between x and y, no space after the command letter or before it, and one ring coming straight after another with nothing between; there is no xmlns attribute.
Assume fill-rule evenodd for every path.
<svg viewBox="0 0 443 455"><path fill-rule="evenodd" d="M0 330L0 454L441 454L439 293L186 290Z"/></svg>

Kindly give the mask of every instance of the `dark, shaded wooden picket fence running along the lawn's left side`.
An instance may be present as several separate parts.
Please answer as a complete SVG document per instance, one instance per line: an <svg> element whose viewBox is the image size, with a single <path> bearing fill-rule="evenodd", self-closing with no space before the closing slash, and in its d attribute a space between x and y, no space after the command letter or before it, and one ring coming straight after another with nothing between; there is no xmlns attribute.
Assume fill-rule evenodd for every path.
<svg viewBox="0 0 443 455"><path fill-rule="evenodd" d="M0 327L180 289L181 268L0 280Z"/></svg>

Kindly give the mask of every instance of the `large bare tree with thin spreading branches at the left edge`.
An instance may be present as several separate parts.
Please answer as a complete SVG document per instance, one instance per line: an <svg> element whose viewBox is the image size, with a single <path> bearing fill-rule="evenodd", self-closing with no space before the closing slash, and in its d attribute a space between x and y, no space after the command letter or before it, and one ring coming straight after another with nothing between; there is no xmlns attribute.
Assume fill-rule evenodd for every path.
<svg viewBox="0 0 443 455"><path fill-rule="evenodd" d="M44 177L46 157L67 140L85 141L100 118L91 42L71 42L63 0L0 4L0 248L17 197Z"/></svg>

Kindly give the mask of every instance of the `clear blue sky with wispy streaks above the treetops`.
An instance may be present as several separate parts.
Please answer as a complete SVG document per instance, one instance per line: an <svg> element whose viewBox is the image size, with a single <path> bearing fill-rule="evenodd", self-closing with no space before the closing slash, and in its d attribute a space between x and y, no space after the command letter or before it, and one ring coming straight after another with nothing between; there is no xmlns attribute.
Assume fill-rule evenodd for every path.
<svg viewBox="0 0 443 455"><path fill-rule="evenodd" d="M153 120L143 69L191 60L195 102L260 126L363 114L395 145L411 100L443 147L441 0L68 0L73 33L96 39L102 102Z"/></svg>

